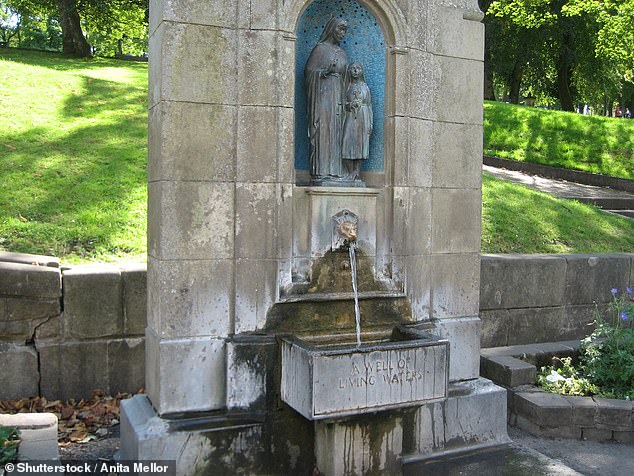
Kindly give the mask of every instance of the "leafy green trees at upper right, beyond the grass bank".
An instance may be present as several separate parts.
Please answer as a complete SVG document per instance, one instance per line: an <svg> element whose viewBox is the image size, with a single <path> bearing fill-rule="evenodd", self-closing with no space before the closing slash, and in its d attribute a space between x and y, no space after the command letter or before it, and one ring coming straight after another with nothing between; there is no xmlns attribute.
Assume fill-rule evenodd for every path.
<svg viewBox="0 0 634 476"><path fill-rule="evenodd" d="M481 0L485 91L572 111L632 105L634 0Z"/></svg>

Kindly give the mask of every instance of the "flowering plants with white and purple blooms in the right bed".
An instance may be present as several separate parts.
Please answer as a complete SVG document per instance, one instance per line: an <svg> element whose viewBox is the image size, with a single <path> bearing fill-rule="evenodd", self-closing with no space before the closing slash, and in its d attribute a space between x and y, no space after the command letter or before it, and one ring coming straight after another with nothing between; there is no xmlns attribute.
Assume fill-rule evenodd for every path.
<svg viewBox="0 0 634 476"><path fill-rule="evenodd" d="M596 395L603 398L634 399L634 300L630 288L624 293L612 289L613 300L605 318L595 311L596 328L579 349L579 364L571 358L554 359L542 367L537 384L544 390L564 395Z"/></svg>

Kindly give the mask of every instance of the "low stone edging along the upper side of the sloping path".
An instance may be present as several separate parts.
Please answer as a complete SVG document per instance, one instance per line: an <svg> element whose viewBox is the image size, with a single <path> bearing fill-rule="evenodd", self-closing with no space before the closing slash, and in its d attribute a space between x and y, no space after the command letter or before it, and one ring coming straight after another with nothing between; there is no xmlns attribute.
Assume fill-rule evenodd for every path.
<svg viewBox="0 0 634 476"><path fill-rule="evenodd" d="M582 172L580 170L550 167L548 165L534 164L531 162L519 162L517 160L503 159L501 157L493 157L489 155L483 156L483 163L484 165L489 165L491 167L501 167L509 170L528 172L552 179L567 180L568 182L595 185L597 187L610 187L615 190L623 190L625 192L634 193L634 180L630 179L593 174L589 172Z"/></svg>

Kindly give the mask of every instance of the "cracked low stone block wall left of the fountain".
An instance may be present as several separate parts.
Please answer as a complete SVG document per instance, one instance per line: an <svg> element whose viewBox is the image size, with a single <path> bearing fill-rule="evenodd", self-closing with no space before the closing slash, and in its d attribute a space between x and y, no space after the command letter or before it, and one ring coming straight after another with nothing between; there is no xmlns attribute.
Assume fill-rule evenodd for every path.
<svg viewBox="0 0 634 476"><path fill-rule="evenodd" d="M0 399L89 397L144 382L145 265L60 269L0 254Z"/></svg>

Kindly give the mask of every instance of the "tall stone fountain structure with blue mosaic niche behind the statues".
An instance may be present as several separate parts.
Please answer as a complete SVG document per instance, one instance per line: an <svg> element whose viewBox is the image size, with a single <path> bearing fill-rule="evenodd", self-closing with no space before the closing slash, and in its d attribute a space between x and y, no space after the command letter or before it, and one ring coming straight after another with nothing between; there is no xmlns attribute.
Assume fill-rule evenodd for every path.
<svg viewBox="0 0 634 476"><path fill-rule="evenodd" d="M315 183L309 167L303 68L331 16L372 94L358 186ZM147 397L123 407L123 458L176 459L179 474L394 474L507 440L505 393L478 378L481 19L475 0L151 2ZM393 343L367 348L365 380L333 375L329 402L383 374L401 394L419 378L405 375L442 388L313 419L288 404L302 398L282 391L298 375L282 354L354 334L333 231L348 213L364 339L438 347L411 350L418 364Z"/></svg>

